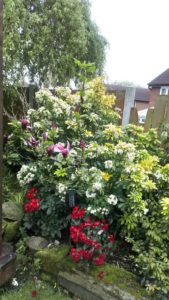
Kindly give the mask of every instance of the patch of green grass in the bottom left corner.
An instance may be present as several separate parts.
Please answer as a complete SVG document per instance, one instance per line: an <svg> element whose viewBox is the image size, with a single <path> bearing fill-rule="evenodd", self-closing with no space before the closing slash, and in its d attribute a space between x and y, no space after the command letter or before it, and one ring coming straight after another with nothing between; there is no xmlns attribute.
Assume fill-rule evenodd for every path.
<svg viewBox="0 0 169 300"><path fill-rule="evenodd" d="M36 291L37 295L33 297L32 291ZM50 285L39 281L36 284L33 281L27 281L19 287L10 291L0 290L1 300L70 300L69 296L64 295L61 291L55 290Z"/></svg>

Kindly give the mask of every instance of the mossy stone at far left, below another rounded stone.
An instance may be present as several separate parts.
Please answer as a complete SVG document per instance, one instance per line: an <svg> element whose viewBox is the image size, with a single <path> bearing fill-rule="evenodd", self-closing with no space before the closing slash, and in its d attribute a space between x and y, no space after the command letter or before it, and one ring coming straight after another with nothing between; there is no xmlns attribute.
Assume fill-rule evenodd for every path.
<svg viewBox="0 0 169 300"><path fill-rule="evenodd" d="M6 242L11 242L17 239L18 237L18 229L20 223L15 222L7 222L3 220L3 240Z"/></svg>

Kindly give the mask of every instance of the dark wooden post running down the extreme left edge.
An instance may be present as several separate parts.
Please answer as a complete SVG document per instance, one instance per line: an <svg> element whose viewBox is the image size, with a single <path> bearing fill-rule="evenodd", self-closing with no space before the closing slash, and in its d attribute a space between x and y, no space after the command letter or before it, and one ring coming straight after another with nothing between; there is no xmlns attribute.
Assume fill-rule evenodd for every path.
<svg viewBox="0 0 169 300"><path fill-rule="evenodd" d="M0 256L2 256L2 178L3 178L3 77L2 77L2 43L3 43L3 3L0 0Z"/></svg>

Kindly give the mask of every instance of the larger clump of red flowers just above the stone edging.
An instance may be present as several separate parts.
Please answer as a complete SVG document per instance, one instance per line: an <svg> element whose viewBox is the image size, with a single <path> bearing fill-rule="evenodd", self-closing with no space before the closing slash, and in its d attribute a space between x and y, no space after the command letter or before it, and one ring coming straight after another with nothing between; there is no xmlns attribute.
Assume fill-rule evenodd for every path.
<svg viewBox="0 0 169 300"><path fill-rule="evenodd" d="M75 262L91 261L94 265L103 265L106 255L115 242L113 234L108 233L107 220L85 218L85 209L76 206L71 214L70 238L76 246L71 249L71 257Z"/></svg>

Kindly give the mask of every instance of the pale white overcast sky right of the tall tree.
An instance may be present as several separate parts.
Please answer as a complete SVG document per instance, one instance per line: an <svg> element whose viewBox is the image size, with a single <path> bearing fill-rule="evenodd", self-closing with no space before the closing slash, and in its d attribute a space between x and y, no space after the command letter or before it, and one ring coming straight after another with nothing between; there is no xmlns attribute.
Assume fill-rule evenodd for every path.
<svg viewBox="0 0 169 300"><path fill-rule="evenodd" d="M91 0L92 19L109 42L109 83L147 83L169 68L169 0Z"/></svg>

